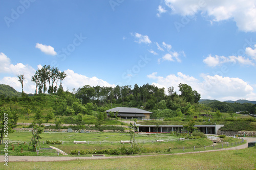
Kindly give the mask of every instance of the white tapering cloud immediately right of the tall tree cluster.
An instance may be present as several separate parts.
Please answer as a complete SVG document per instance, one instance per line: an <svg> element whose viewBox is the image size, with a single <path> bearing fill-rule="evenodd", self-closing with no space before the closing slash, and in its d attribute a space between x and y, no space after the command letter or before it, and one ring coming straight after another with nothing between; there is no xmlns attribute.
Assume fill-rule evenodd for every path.
<svg viewBox="0 0 256 170"><path fill-rule="evenodd" d="M63 89L78 89L84 85L115 87L114 84L109 84L102 79L98 79L97 77L89 78L84 75L79 75L70 69L65 70L65 73L67 74L67 77L62 81Z"/></svg>

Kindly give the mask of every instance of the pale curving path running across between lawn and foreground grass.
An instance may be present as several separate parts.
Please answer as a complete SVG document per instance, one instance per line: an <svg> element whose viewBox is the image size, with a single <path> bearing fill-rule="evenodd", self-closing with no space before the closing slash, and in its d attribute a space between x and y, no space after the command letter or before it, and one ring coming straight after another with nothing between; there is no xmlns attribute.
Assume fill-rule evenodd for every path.
<svg viewBox="0 0 256 170"><path fill-rule="evenodd" d="M191 154L191 153L203 153L203 152L217 152L224 150L240 150L248 147L248 142L256 141L255 137L244 137L244 140L247 143L239 145L237 147L220 149L220 150L210 150L210 151L199 151L199 152L186 152L186 153L177 153L177 154L161 154L161 155L180 155L180 154ZM78 159L113 159L113 158L135 158L135 157L146 157L146 156L158 156L158 155L136 155L136 156L110 156L110 157L58 157L58 156L8 156L8 162L16 161L32 161L32 162L42 162L42 161L68 161L68 160L78 160ZM4 162L3 157L0 162Z"/></svg>

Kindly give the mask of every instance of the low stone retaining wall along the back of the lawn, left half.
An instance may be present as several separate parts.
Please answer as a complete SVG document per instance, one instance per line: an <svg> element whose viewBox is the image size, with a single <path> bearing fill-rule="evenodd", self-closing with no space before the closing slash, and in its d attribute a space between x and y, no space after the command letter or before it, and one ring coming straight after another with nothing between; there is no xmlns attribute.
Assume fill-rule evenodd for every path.
<svg viewBox="0 0 256 170"><path fill-rule="evenodd" d="M32 128L13 128L15 131L32 131ZM97 130L84 130L85 132L100 132ZM68 129L44 129L44 132L68 132ZM73 132L79 133L78 130L73 130ZM122 132L114 130L103 130L102 132ZM124 130L124 132L129 132L129 130Z"/></svg>

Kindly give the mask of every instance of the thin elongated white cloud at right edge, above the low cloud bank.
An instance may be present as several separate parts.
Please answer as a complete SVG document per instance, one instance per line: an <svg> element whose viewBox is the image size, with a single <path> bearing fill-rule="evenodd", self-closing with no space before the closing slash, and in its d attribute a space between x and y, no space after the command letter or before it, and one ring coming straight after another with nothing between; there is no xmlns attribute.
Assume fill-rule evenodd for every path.
<svg viewBox="0 0 256 170"><path fill-rule="evenodd" d="M225 57L225 56L218 56L215 55L214 57L212 57L211 55L209 55L208 57L206 57L203 62L205 64L207 64L210 67L215 67L217 65L221 65L224 63L239 63L242 65L254 65L253 61L251 61L248 58L242 57L242 56L229 56L229 57Z"/></svg>

